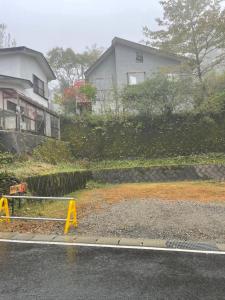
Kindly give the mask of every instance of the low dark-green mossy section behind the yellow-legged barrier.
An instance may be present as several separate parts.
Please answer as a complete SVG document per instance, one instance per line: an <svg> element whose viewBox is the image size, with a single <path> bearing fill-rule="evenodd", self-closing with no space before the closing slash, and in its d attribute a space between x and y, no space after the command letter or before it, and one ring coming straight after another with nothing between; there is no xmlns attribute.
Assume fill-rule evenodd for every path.
<svg viewBox="0 0 225 300"><path fill-rule="evenodd" d="M26 182L33 195L63 196L75 190L85 188L91 178L91 172L65 172L28 177Z"/></svg>

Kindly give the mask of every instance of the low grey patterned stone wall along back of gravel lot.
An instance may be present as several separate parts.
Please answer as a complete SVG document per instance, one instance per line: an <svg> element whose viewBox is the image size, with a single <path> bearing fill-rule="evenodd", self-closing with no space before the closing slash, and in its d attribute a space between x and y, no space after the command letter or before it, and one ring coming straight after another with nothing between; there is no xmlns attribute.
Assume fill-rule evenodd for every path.
<svg viewBox="0 0 225 300"><path fill-rule="evenodd" d="M225 165L104 169L93 171L92 177L103 183L225 180Z"/></svg>

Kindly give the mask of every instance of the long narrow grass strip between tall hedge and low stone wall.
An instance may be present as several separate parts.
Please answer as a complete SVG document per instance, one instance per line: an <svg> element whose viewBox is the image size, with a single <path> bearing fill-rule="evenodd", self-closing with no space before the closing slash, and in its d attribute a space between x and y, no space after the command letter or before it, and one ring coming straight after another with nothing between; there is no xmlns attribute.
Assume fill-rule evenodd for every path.
<svg viewBox="0 0 225 300"><path fill-rule="evenodd" d="M77 160L58 164L38 162L27 157L24 160L16 160L7 165L0 166L0 172L7 170L20 179L34 175L46 175L58 172L70 172L80 170L98 170L112 168L135 168L156 166L178 166L196 164L225 164L225 154L211 153L207 155L178 156L162 159L136 159L136 160L104 160L88 161Z"/></svg>

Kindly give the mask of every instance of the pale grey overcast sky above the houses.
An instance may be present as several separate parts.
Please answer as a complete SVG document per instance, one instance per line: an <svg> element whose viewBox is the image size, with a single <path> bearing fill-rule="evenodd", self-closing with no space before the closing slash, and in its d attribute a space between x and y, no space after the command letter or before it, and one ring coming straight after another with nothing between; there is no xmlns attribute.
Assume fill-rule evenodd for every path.
<svg viewBox="0 0 225 300"><path fill-rule="evenodd" d="M0 23L17 45L44 53L55 46L106 48L114 36L139 42L142 26L155 29L161 14L158 0L0 0Z"/></svg>

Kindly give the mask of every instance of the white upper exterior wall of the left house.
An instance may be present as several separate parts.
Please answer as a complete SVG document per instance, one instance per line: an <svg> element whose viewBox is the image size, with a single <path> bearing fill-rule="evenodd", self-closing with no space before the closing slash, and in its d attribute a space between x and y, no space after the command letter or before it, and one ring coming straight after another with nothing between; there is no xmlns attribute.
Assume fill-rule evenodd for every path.
<svg viewBox="0 0 225 300"><path fill-rule="evenodd" d="M35 58L22 53L4 54L0 56L0 75L27 79L33 82L33 74L44 81L46 87L46 98L48 98L47 77ZM2 84L0 87L3 87ZM16 86L12 85L7 87L16 88ZM48 100L35 94L33 92L33 88L23 89L20 87L18 91L23 93L25 96L32 98L38 104L48 107Z"/></svg>

